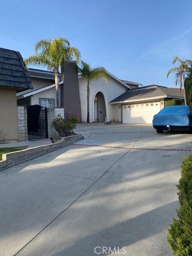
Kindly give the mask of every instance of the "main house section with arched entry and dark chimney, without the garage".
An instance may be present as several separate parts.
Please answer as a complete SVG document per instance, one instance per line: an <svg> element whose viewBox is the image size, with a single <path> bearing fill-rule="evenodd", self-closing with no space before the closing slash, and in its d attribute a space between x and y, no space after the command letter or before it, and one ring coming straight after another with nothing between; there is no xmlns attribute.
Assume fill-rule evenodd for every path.
<svg viewBox="0 0 192 256"><path fill-rule="evenodd" d="M137 88L136 82L120 80L108 73L109 84L102 79L90 82L90 122L96 121L97 116L100 122L114 119L113 106L108 102L117 95L124 93L127 89ZM32 80L33 90L26 90L17 94L18 106L39 104L43 107L55 107L56 92L54 84L54 73L51 71L28 68L28 74ZM87 83L84 78L78 76L74 69L74 62L66 66L65 81L60 82L61 86L61 108L64 108L65 116L72 111L80 117L80 121L86 122L87 116ZM96 104L98 105L96 106ZM100 109L102 108L102 109Z"/></svg>

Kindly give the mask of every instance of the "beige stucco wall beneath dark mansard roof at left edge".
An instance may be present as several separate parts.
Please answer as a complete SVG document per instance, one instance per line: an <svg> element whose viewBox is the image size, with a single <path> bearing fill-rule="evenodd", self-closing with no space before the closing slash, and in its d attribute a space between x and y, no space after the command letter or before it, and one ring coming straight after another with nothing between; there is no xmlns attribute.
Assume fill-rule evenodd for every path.
<svg viewBox="0 0 192 256"><path fill-rule="evenodd" d="M16 89L0 87L0 143L18 140Z"/></svg>

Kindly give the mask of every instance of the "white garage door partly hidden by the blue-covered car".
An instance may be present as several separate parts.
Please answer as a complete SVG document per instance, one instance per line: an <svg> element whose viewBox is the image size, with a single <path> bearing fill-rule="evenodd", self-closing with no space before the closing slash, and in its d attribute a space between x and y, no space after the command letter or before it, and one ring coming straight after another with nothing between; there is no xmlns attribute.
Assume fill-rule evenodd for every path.
<svg viewBox="0 0 192 256"><path fill-rule="evenodd" d="M122 105L124 124L149 124L160 111L160 102Z"/></svg>

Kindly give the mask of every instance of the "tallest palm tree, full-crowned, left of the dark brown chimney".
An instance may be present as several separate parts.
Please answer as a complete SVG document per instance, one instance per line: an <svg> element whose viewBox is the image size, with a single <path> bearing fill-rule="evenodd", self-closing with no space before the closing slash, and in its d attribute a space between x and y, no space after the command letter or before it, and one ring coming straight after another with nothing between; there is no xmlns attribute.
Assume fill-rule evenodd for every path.
<svg viewBox="0 0 192 256"><path fill-rule="evenodd" d="M25 59L26 65L44 66L48 70L53 70L55 74L57 108L60 107L59 72L61 70L61 80L64 81L65 67L73 57L76 58L76 62L79 61L79 50L71 47L66 38L60 37L38 41L35 45L35 54Z"/></svg>

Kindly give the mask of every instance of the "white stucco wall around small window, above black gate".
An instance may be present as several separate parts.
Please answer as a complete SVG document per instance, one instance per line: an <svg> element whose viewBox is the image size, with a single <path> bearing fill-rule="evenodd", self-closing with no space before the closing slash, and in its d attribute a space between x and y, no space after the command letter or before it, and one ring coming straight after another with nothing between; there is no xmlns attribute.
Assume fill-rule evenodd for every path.
<svg viewBox="0 0 192 256"><path fill-rule="evenodd" d="M50 88L48 90L44 90L44 91L39 92L37 94L33 94L31 96L31 105L35 105L35 104L39 105L39 99L40 98L54 99L54 102L56 104L56 90L55 90L55 87Z"/></svg>

